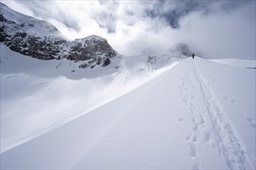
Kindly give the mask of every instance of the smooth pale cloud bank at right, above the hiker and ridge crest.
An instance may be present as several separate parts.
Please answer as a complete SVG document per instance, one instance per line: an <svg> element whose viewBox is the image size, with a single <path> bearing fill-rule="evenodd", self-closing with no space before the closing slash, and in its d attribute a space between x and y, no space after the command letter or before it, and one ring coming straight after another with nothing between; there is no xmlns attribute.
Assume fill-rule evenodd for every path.
<svg viewBox="0 0 256 170"><path fill-rule="evenodd" d="M182 41L206 58L255 59L254 10L253 5L246 5L233 12L219 11L215 15L195 12L181 21Z"/></svg>

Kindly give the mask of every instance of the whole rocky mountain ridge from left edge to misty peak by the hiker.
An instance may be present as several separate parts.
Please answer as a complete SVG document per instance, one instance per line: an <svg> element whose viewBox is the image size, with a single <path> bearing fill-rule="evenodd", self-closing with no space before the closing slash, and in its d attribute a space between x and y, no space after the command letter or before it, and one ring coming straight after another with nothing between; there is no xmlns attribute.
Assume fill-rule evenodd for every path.
<svg viewBox="0 0 256 170"><path fill-rule="evenodd" d="M13 11L0 2L0 42L8 46L12 51L30 56L36 59L68 59L79 63L81 69L95 69L108 66L118 72L122 63L126 63L127 57L120 55L107 39L101 36L87 36L70 41L49 22L35 19ZM191 51L185 44L179 44L166 52L157 53L145 49L132 62L143 62L148 70L168 65L173 57L187 58ZM130 62L130 59L128 59ZM159 64L160 63L160 64Z"/></svg>

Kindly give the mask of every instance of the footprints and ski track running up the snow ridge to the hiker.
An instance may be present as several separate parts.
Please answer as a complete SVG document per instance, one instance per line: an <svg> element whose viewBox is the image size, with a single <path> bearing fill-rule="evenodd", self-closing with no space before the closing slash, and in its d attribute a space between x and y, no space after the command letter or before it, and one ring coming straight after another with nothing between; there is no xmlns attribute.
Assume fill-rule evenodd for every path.
<svg viewBox="0 0 256 170"><path fill-rule="evenodd" d="M184 96L183 102L188 104L191 112L189 116L192 121L192 132L185 138L189 145L189 156L192 159L191 168L200 168L199 146L205 144L210 148L219 148L228 169L245 169L244 164L247 162L247 157L232 124L226 116L227 114L217 102L213 90L199 73L194 61L192 66L192 70L183 77L180 87L180 93ZM200 113L199 108L194 104L195 95L191 95L188 91L188 84L191 83L189 77L191 76L195 76L197 81L195 83L199 84L199 90L208 112L206 114ZM195 89L195 86L192 86L192 89Z"/></svg>

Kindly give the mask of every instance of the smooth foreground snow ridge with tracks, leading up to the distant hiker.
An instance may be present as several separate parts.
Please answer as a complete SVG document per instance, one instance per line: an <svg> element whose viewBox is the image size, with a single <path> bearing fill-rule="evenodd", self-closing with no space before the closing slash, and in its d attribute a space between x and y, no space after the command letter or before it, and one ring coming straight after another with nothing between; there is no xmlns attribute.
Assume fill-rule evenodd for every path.
<svg viewBox="0 0 256 170"><path fill-rule="evenodd" d="M254 93L253 69L185 59L5 151L1 168L254 169Z"/></svg>

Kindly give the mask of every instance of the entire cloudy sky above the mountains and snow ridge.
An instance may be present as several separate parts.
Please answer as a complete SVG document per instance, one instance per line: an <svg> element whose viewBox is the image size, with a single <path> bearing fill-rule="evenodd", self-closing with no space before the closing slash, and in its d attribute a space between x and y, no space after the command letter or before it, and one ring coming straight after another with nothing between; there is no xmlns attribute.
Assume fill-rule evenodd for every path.
<svg viewBox="0 0 256 170"><path fill-rule="evenodd" d="M97 35L123 55L188 44L205 58L255 59L255 1L10 1L68 39Z"/></svg>

